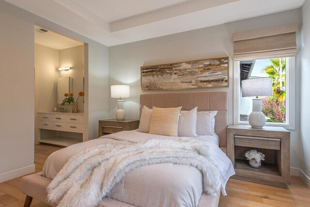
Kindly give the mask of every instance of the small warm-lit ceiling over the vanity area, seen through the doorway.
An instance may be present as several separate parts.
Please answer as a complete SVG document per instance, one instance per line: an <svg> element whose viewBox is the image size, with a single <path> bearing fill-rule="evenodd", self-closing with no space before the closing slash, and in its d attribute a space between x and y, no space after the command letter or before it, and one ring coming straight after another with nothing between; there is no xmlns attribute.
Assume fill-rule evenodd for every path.
<svg viewBox="0 0 310 207"><path fill-rule="evenodd" d="M35 44L43 45L48 48L54 48L58 50L84 45L83 43L80 43L68 37L62 36L55 32L51 32L51 31L44 32L44 33L37 32L37 30L40 28L41 27L34 25L34 43Z"/></svg>

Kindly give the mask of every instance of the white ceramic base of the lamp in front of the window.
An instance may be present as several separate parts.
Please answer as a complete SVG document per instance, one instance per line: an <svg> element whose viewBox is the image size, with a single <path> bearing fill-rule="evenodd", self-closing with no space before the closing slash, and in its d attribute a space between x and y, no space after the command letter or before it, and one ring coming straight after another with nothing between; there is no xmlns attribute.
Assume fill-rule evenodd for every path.
<svg viewBox="0 0 310 207"><path fill-rule="evenodd" d="M253 98L252 112L248 117L248 124L253 128L263 128L266 124L265 115L262 112L262 98Z"/></svg>

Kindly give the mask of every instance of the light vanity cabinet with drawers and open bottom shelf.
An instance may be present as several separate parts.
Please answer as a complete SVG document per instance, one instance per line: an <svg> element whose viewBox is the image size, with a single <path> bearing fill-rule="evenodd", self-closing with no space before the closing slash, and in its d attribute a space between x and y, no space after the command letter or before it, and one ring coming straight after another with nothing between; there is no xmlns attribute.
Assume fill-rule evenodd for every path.
<svg viewBox="0 0 310 207"><path fill-rule="evenodd" d="M69 146L83 142L84 114L39 112L38 142Z"/></svg>

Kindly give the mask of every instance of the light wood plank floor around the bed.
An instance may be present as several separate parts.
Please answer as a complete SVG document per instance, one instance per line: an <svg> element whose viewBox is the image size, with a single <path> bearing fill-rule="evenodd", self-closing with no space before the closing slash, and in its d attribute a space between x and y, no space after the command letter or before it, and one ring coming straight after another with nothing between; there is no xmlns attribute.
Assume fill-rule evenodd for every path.
<svg viewBox="0 0 310 207"><path fill-rule="evenodd" d="M51 145L35 145L34 163L36 172L42 171L47 156L61 147ZM18 177L0 183L0 207L22 207L25 195L19 191ZM219 199L220 207L310 207L310 189L296 176L291 177L288 189L281 189L245 181L230 179L226 186L227 196ZM49 207L33 199L32 207Z"/></svg>

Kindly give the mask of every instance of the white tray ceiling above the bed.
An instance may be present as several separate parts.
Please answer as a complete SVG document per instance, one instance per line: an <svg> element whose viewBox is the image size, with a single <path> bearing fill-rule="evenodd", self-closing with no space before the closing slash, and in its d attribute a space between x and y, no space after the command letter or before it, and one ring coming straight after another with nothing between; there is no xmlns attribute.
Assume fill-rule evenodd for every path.
<svg viewBox="0 0 310 207"><path fill-rule="evenodd" d="M299 8L305 0L6 0L106 46Z"/></svg>

